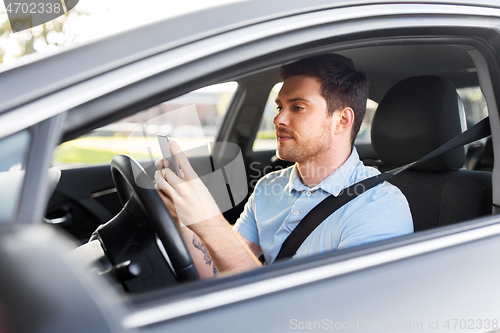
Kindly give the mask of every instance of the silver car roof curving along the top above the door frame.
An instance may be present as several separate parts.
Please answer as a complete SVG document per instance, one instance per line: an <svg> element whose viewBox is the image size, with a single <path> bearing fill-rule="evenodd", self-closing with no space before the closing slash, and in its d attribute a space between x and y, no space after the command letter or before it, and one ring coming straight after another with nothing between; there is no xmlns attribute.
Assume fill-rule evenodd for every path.
<svg viewBox="0 0 500 333"><path fill-rule="evenodd" d="M398 2L370 1L373 3ZM425 1L410 0L406 2ZM432 3L497 7L496 0L433 0ZM277 18L363 0L247 1L165 19L52 55L32 55L0 71L0 113L126 64L181 45ZM221 20L221 17L224 19Z"/></svg>

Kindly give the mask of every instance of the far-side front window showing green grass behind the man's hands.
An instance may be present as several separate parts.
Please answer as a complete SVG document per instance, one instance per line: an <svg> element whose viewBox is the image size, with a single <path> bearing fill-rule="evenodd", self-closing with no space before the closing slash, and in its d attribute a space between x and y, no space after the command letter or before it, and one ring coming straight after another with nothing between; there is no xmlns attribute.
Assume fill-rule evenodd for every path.
<svg viewBox="0 0 500 333"><path fill-rule="evenodd" d="M65 142L57 147L53 165L109 163L121 153L137 160L157 159L157 134L170 135L184 151L206 145L214 141L237 86L226 82L204 87Z"/></svg>

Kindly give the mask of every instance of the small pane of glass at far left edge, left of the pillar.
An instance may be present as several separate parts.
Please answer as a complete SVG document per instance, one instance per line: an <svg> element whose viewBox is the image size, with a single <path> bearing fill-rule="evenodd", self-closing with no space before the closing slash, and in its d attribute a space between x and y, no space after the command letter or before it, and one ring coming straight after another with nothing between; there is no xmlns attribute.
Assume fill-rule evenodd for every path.
<svg viewBox="0 0 500 333"><path fill-rule="evenodd" d="M15 217L30 137L30 132L24 130L0 140L0 222Z"/></svg>

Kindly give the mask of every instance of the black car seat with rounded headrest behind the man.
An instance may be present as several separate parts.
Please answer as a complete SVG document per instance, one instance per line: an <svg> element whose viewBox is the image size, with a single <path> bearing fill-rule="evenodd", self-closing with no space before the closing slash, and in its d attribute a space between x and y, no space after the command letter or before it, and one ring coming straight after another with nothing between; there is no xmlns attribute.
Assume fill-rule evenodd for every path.
<svg viewBox="0 0 500 333"><path fill-rule="evenodd" d="M382 170L416 161L462 132L461 100L443 77L395 84L372 123L372 145ZM491 172L467 171L463 147L391 178L406 196L415 231L491 214Z"/></svg>

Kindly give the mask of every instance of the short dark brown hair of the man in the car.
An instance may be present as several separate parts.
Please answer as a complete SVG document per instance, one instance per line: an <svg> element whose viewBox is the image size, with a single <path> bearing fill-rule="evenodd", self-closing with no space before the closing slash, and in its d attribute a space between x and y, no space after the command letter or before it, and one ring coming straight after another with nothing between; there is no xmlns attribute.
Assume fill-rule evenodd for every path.
<svg viewBox="0 0 500 333"><path fill-rule="evenodd" d="M352 108L351 144L354 144L366 113L369 82L364 73L355 70L351 59L338 54L322 54L283 65L280 74L283 81L296 75L317 78L321 82L321 94L326 99L330 116L336 110Z"/></svg>

